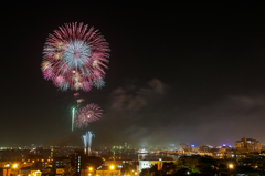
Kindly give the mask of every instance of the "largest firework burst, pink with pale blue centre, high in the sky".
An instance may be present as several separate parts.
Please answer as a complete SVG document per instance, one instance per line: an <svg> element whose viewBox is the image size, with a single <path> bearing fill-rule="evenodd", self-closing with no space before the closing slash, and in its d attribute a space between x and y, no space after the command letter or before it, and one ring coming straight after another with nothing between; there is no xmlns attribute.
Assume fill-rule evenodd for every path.
<svg viewBox="0 0 265 176"><path fill-rule="evenodd" d="M88 92L93 86L102 87L108 53L108 43L93 27L64 24L46 40L41 64L43 76L62 91Z"/></svg>

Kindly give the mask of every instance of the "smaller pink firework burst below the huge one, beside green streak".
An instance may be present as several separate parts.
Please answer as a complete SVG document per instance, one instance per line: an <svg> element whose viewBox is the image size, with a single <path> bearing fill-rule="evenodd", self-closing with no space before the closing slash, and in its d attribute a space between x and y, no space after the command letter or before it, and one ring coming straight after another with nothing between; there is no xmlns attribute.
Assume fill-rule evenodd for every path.
<svg viewBox="0 0 265 176"><path fill-rule="evenodd" d="M91 122L97 121L102 117L103 110L97 104L87 104L80 108L75 115L75 126L78 128L87 127Z"/></svg>

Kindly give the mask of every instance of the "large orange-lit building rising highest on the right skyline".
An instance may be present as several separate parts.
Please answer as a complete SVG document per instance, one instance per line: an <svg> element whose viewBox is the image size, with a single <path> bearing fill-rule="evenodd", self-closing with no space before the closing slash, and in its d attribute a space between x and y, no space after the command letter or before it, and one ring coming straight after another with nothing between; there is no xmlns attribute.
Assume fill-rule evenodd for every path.
<svg viewBox="0 0 265 176"><path fill-rule="evenodd" d="M246 152L261 152L262 145L258 141L253 138L241 138L241 141L235 142L236 149L244 149Z"/></svg>

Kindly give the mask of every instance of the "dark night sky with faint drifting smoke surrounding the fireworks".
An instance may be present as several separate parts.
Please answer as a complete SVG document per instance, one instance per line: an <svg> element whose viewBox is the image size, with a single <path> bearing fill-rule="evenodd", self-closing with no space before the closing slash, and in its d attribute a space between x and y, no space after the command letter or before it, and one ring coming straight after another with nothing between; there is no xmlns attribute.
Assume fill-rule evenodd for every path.
<svg viewBox="0 0 265 176"><path fill-rule="evenodd" d="M10 2L1 22L0 146L265 144L264 4ZM42 77L44 42L70 22L99 29L110 48L106 86L81 92L103 117L71 132L73 91ZM84 104L85 104L84 103Z"/></svg>

